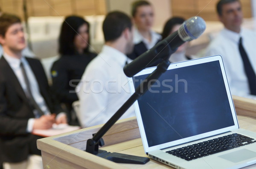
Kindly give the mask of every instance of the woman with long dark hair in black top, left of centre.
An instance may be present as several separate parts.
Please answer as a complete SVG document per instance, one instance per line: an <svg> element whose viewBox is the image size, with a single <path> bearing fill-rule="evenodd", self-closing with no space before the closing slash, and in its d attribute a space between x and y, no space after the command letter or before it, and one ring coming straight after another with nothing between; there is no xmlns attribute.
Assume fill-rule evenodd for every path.
<svg viewBox="0 0 256 169"><path fill-rule="evenodd" d="M96 57L89 52L89 23L82 17L68 16L61 26L59 37L60 59L53 63L52 91L68 111L78 100L75 87L81 80L87 64ZM70 115L68 115L70 119Z"/></svg>

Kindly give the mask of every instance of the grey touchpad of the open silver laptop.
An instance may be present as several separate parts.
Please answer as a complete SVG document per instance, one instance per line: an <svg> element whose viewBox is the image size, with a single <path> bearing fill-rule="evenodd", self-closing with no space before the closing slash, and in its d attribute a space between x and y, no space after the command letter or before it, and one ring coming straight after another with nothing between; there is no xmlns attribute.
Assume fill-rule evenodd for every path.
<svg viewBox="0 0 256 169"><path fill-rule="evenodd" d="M247 149L241 149L236 152L230 152L225 155L218 156L220 158L224 158L225 160L229 160L234 163L238 163L243 160L248 160L250 158L256 157L256 152L247 150Z"/></svg>

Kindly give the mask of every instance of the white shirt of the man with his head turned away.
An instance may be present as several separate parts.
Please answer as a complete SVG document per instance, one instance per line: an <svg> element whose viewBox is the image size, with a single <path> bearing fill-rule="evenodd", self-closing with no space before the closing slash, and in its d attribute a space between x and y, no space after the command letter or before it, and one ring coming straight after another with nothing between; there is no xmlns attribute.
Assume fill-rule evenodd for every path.
<svg viewBox="0 0 256 169"><path fill-rule="evenodd" d="M102 52L86 67L76 88L83 127L106 123L131 96L123 67L128 57L104 45ZM135 116L131 106L120 119Z"/></svg>

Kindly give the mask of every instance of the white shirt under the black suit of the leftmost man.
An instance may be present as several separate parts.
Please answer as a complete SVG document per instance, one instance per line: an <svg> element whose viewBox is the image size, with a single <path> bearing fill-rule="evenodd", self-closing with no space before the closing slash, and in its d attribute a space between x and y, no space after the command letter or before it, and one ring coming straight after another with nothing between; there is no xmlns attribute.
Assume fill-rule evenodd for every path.
<svg viewBox="0 0 256 169"><path fill-rule="evenodd" d="M30 68L29 63L27 62L25 57L21 57L21 59L17 59L15 57L8 56L6 53L3 54L3 57L6 59L6 61L11 66L13 72L15 73L17 79L20 82L20 86L26 93L27 86L26 86L26 82L23 77L22 70L20 68L20 62L23 63L24 69L26 71L26 75L29 79L31 92L32 92L35 102L38 104L38 106L44 112L45 115L50 115L49 109L44 101L44 97L42 97L42 95L40 94L38 82L35 78L35 75L32 72L32 69ZM27 132L32 132L33 125L34 125L34 118L31 118L28 121Z"/></svg>

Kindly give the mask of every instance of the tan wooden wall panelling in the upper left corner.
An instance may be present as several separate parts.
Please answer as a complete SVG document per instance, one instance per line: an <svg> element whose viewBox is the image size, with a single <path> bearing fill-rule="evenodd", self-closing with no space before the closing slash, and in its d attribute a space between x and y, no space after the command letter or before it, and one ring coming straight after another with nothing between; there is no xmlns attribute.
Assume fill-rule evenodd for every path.
<svg viewBox="0 0 256 169"><path fill-rule="evenodd" d="M67 16L106 14L105 0L26 0L28 16ZM0 0L3 12L23 19L23 0Z"/></svg>

